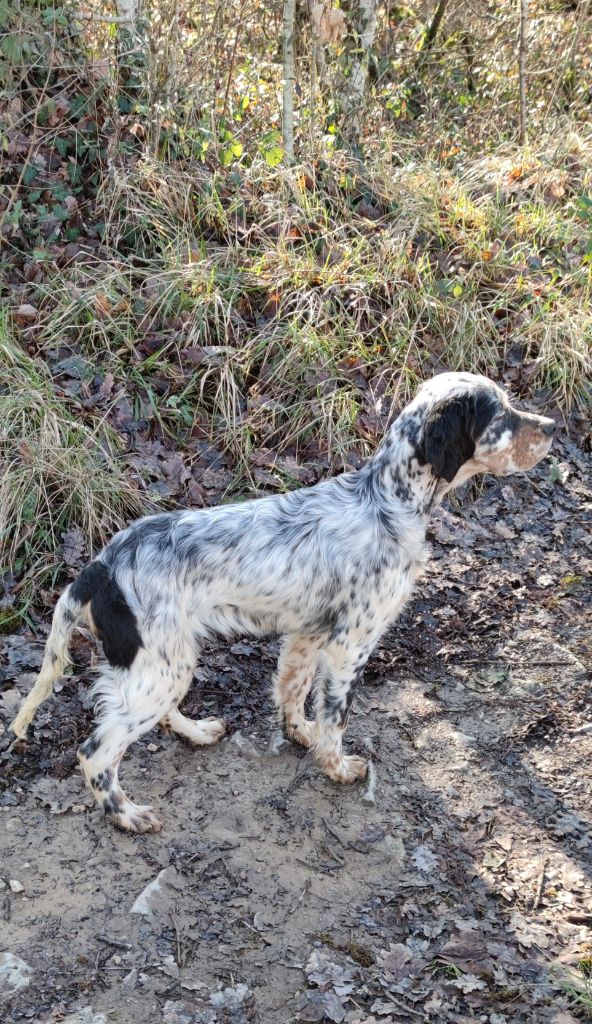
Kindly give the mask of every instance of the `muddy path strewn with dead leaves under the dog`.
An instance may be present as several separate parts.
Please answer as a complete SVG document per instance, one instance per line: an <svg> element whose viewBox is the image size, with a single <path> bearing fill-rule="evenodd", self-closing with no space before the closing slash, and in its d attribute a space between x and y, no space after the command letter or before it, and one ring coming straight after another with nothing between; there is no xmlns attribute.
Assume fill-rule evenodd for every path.
<svg viewBox="0 0 592 1024"><path fill-rule="evenodd" d="M76 767L96 657L77 641L31 740L0 736L3 1021L585 1013L567 990L592 973L591 460L558 451L559 468L489 479L434 518L428 573L348 730L374 800L278 742L276 646L241 640L209 652L185 702L228 736L145 736L122 777L165 827L116 831ZM6 725L42 637L0 641Z"/></svg>

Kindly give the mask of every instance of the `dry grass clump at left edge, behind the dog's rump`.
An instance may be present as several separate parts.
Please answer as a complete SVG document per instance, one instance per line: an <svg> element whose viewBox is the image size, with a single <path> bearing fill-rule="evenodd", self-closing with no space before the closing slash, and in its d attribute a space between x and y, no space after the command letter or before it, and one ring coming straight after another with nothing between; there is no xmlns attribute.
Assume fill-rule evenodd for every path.
<svg viewBox="0 0 592 1024"><path fill-rule="evenodd" d="M124 473L113 434L76 419L5 322L0 360L0 565L20 577L26 601L64 567L66 531L79 530L89 553L145 502Z"/></svg>

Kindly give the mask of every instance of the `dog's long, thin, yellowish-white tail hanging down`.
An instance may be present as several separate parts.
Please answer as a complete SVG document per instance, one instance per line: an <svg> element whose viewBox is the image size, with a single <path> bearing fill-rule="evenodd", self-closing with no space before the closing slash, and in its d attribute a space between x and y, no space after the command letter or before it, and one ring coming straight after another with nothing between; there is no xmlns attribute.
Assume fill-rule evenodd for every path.
<svg viewBox="0 0 592 1024"><path fill-rule="evenodd" d="M72 596L73 589L74 586L68 587L55 605L41 671L16 718L10 723L12 732L15 732L20 739L27 735L27 729L39 705L51 696L53 684L64 674L69 663L70 638L83 608L80 601Z"/></svg>

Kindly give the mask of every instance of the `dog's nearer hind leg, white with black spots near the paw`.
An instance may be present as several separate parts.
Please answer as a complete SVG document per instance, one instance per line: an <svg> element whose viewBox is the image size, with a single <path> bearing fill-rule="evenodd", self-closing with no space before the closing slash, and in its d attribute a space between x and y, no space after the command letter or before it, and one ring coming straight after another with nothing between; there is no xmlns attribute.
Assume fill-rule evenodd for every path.
<svg viewBox="0 0 592 1024"><path fill-rule="evenodd" d="M96 802L120 828L134 833L162 828L150 806L138 806L125 795L119 764L128 746L169 714L188 682L164 659L142 650L130 669L105 670L94 687L99 696L98 725L80 746L78 758Z"/></svg>

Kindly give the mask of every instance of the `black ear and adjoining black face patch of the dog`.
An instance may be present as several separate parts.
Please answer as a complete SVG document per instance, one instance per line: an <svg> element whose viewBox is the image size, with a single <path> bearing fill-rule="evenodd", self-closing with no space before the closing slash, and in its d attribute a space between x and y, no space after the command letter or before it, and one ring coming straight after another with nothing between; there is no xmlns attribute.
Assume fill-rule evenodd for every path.
<svg viewBox="0 0 592 1024"><path fill-rule="evenodd" d="M471 459L475 443L491 423L498 403L485 390L440 402L430 413L423 437L423 461L451 483Z"/></svg>

